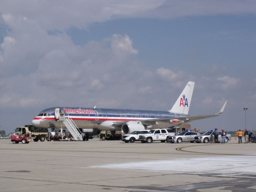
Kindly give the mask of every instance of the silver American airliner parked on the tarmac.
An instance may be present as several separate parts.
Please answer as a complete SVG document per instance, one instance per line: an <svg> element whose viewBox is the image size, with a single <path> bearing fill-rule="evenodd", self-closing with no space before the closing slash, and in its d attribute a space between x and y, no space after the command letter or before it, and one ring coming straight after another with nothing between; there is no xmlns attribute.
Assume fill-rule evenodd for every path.
<svg viewBox="0 0 256 192"><path fill-rule="evenodd" d="M42 110L32 120L32 124L40 128L62 128L61 115L68 116L74 121L81 132L92 135L102 130L122 130L123 134L130 134L136 130L154 128L173 128L193 120L220 116L227 101L220 111L211 115L189 116L195 82L188 82L169 111L80 108L80 107L52 107Z"/></svg>

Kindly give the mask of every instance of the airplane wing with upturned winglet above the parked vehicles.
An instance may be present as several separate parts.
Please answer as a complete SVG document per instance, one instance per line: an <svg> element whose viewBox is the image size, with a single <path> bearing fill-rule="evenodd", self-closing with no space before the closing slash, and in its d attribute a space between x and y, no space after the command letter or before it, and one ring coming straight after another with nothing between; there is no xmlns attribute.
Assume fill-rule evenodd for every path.
<svg viewBox="0 0 256 192"><path fill-rule="evenodd" d="M222 108L220 109L220 111L218 113L212 114L212 115L182 116L182 117L173 117L173 118L134 120L134 121L140 121L143 125L146 125L146 126L156 124L156 122L167 122L168 123L168 122L170 122L170 120L179 120L182 122L181 124L184 124L184 123L191 122L193 120L206 119L206 118L220 116L220 114L222 114L222 112L224 111L226 104L227 104L227 101L225 101L225 103L223 104ZM117 122L112 122L112 125L121 127L124 123L127 123L127 122L128 121L117 121Z"/></svg>

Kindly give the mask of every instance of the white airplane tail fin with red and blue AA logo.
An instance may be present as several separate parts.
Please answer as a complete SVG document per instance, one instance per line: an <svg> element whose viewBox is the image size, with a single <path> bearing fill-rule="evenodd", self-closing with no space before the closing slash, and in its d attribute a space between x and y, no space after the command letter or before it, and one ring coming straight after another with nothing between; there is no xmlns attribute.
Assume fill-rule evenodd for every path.
<svg viewBox="0 0 256 192"><path fill-rule="evenodd" d="M172 107L172 109L169 111L171 113L177 113L177 114L188 114L188 110L190 108L191 104L191 98L194 90L195 82L188 82L180 96L178 97L176 103Z"/></svg>

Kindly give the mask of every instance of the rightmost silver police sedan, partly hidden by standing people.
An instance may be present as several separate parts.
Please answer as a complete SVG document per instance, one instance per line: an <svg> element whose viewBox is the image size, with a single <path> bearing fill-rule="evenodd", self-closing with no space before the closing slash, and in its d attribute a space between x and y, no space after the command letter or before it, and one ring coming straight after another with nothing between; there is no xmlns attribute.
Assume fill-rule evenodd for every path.
<svg viewBox="0 0 256 192"><path fill-rule="evenodd" d="M197 143L201 143L201 142L204 142L204 143L208 143L208 142L214 142L214 134L213 134L214 130L211 130L211 131L208 131L202 135L197 135L195 136L195 139L194 141L197 142ZM219 136L218 136L218 140L219 142L222 141L222 137L221 137L221 132L219 131ZM231 135L230 134L227 134L226 135L226 143L231 140Z"/></svg>

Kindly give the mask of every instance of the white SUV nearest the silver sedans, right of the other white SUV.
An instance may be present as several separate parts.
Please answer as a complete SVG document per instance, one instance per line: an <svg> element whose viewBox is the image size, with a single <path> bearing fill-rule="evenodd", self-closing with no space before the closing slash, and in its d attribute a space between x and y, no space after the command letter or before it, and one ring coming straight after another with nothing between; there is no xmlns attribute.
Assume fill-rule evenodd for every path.
<svg viewBox="0 0 256 192"><path fill-rule="evenodd" d="M152 143L153 141L161 141L163 143L168 136L174 135L175 133L172 129L152 129L146 134L141 134L139 140L142 143Z"/></svg>

